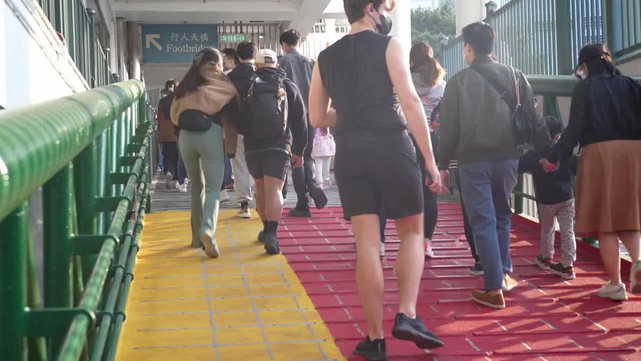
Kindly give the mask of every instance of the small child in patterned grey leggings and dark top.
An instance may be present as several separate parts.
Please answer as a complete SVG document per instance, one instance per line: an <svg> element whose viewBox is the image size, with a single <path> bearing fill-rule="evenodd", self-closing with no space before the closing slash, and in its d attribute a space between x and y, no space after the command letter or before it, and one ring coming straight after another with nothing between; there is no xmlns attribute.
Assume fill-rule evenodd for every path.
<svg viewBox="0 0 641 361"><path fill-rule="evenodd" d="M545 123L553 141L558 141L563 130L561 121L547 116ZM579 159L574 155L565 163L562 162L556 172L550 173L543 170L538 163L540 159L541 155L536 150L530 150L519 159L519 173L532 174L535 193L537 193L538 219L541 225L541 251L537 256L537 265L563 279L573 279L576 277L572 267L576 261L576 238L574 237L574 188L570 172L576 174ZM559 263L553 262L555 218L561 229Z"/></svg>

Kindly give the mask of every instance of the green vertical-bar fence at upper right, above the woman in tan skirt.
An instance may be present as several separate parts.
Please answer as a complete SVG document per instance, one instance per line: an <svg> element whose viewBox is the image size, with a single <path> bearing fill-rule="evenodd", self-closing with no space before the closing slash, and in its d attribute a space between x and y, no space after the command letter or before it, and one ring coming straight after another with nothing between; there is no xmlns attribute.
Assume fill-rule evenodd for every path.
<svg viewBox="0 0 641 361"><path fill-rule="evenodd" d="M569 74L589 42L607 42L617 60L641 55L641 0L513 0L499 10L489 1L486 8L497 59L525 74ZM437 57L448 78L467 67L463 38Z"/></svg>

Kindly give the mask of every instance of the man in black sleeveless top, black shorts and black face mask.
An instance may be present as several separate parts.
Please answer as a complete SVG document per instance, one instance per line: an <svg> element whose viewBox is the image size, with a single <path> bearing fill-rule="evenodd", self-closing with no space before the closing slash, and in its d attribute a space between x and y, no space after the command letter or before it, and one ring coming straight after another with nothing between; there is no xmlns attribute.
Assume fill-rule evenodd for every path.
<svg viewBox="0 0 641 361"><path fill-rule="evenodd" d="M401 237L396 263L399 313L392 335L422 349L443 346L416 310L425 261L419 166L431 175L432 191L440 193L442 182L403 47L387 36L392 27L387 12L394 1L344 0L344 4L352 30L320 53L312 74L309 112L314 127L336 130L334 171L345 218L353 224L356 282L367 315L367 338L354 354L381 361L388 360L379 259L381 203ZM329 109L329 98L335 111ZM425 164L417 163L408 125Z"/></svg>

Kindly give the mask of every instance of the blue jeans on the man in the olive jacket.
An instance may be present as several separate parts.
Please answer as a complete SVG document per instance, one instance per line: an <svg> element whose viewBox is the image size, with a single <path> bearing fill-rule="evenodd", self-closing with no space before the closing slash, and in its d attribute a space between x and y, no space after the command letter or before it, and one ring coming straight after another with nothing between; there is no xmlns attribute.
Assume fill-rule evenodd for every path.
<svg viewBox="0 0 641 361"><path fill-rule="evenodd" d="M518 159L461 164L463 203L470 219L486 290L505 286L510 260L510 194L517 184Z"/></svg>

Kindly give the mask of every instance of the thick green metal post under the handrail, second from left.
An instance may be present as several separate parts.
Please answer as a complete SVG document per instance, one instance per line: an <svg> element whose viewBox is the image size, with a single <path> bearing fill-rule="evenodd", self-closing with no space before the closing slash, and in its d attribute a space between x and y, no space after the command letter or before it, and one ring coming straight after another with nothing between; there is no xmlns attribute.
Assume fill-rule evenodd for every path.
<svg viewBox="0 0 641 361"><path fill-rule="evenodd" d="M73 306L71 238L74 231L73 166L67 164L42 188L44 200L45 307ZM51 353L58 354L64 335L51 338Z"/></svg>

